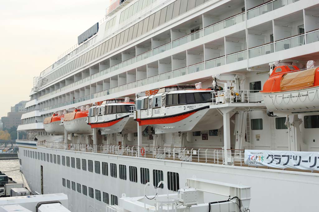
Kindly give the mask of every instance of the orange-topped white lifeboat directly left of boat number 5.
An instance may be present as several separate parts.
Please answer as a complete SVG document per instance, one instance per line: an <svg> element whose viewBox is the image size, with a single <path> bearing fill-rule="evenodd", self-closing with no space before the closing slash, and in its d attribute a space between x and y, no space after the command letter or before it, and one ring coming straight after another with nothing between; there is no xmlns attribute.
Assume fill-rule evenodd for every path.
<svg viewBox="0 0 319 212"><path fill-rule="evenodd" d="M87 125L87 115L89 113L89 106L75 109L72 113L64 115L63 125L69 133L90 134L92 129Z"/></svg>

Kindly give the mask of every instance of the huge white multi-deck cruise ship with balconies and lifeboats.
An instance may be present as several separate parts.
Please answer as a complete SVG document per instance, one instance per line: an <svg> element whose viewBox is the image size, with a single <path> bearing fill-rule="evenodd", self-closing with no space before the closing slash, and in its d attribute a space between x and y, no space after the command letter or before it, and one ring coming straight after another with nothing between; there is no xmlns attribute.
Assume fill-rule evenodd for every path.
<svg viewBox="0 0 319 212"><path fill-rule="evenodd" d="M181 211L317 210L319 0L112 0L92 24L34 77L16 141L34 194L73 212L177 211L187 189L209 192Z"/></svg>

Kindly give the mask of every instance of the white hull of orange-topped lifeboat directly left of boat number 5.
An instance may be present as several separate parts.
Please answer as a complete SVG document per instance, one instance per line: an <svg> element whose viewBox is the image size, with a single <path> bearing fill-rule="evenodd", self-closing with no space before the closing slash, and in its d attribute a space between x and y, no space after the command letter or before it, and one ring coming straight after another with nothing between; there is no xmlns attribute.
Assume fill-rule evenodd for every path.
<svg viewBox="0 0 319 212"><path fill-rule="evenodd" d="M87 123L87 117L77 118L70 121L64 121L63 125L69 133L90 134L92 128Z"/></svg>

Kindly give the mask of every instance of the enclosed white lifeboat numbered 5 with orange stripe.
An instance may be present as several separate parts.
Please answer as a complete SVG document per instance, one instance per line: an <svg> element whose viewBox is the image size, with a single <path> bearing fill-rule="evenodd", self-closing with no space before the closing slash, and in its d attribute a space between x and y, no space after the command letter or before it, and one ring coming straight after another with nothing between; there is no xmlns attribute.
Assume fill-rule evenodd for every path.
<svg viewBox="0 0 319 212"><path fill-rule="evenodd" d="M89 109L88 125L98 128L101 134L135 133L137 123L133 119L132 110L135 103L127 99L109 99L106 104Z"/></svg>

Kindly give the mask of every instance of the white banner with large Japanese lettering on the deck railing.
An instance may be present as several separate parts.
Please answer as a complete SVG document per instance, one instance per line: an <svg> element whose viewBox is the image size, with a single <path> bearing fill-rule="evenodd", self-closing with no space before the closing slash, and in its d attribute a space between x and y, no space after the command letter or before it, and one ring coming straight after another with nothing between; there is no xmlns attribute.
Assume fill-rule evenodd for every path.
<svg viewBox="0 0 319 212"><path fill-rule="evenodd" d="M273 168L319 170L319 152L245 150L245 164Z"/></svg>

